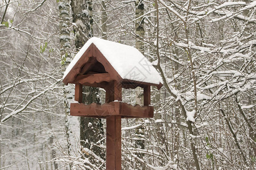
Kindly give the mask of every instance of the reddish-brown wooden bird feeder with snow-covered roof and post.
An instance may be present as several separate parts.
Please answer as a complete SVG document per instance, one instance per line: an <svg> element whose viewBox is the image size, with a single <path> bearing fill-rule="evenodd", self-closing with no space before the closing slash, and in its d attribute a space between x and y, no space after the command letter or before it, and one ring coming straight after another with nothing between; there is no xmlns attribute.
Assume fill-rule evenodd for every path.
<svg viewBox="0 0 256 170"><path fill-rule="evenodd" d="M121 169L121 118L153 117L150 86L163 86L158 72L137 49L93 37L69 64L63 82L75 84L71 116L106 118L106 169ZM104 88L105 104L83 104L82 86ZM143 88L143 106L122 103L122 88L136 87Z"/></svg>

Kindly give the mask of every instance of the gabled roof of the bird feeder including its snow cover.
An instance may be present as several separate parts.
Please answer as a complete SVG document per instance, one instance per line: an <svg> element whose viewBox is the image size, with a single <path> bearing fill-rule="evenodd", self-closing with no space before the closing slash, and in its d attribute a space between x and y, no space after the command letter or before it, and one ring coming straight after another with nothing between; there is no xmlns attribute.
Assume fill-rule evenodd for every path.
<svg viewBox="0 0 256 170"><path fill-rule="evenodd" d="M89 65L90 68L88 68ZM130 80L158 88L163 85L158 71L138 49L97 37L89 39L82 46L67 67L63 82L72 83L77 75L87 74L89 69L93 70L93 67L95 67L94 70L101 70L101 73L109 73L114 80ZM81 73L82 70L87 72Z"/></svg>

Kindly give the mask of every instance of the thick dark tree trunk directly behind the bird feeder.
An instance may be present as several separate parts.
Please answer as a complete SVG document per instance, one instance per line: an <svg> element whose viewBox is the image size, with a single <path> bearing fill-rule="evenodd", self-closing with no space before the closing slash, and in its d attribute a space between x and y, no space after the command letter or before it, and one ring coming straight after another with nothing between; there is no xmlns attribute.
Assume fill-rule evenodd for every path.
<svg viewBox="0 0 256 170"><path fill-rule="evenodd" d="M92 32L92 1L72 0L71 1L73 23L76 23L75 32L75 46L79 50L85 42L93 36ZM95 87L83 88L85 104L100 103L100 92ZM102 129L102 122L100 118L86 118L80 117L80 144L82 153L88 154L88 149L94 154L105 158L105 151L102 151L100 144L104 135ZM93 164L93 156L89 155L90 162ZM96 161L96 160L95 160Z"/></svg>

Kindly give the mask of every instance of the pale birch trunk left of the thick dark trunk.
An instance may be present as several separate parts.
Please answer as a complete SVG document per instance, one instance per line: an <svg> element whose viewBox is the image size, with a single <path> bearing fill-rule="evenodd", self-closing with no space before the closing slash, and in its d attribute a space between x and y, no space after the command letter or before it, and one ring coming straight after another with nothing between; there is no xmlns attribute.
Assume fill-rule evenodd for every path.
<svg viewBox="0 0 256 170"><path fill-rule="evenodd" d="M61 65L64 68L72 61L70 54L70 31L68 29L70 23L69 16L69 0L61 0L59 2L59 16L60 16L60 54ZM79 139L79 118L70 115L70 103L74 97L74 91L72 91L71 85L64 88L64 105L65 105L65 133L67 137L67 147L69 156L77 156L76 150ZM69 168L72 168L72 164L69 164Z"/></svg>

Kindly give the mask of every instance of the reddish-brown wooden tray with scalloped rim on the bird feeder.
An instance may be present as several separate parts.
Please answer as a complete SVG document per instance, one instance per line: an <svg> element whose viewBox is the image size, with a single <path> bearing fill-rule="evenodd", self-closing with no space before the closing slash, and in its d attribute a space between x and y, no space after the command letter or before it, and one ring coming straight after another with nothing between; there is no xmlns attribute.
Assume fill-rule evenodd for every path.
<svg viewBox="0 0 256 170"><path fill-rule="evenodd" d="M90 105L71 103L71 116L98 117L106 118L108 116L122 117L153 117L154 107L140 105L130 105L121 101L105 103L103 105L92 103Z"/></svg>

